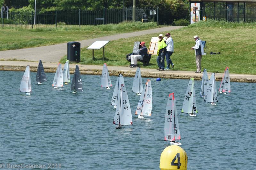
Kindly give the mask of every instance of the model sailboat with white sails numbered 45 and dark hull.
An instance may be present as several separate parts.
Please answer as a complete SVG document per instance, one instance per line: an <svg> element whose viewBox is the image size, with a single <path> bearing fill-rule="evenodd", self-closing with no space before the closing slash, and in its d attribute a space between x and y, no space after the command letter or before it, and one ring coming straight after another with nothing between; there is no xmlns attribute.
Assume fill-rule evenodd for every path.
<svg viewBox="0 0 256 170"><path fill-rule="evenodd" d="M121 85L118 95L113 124L118 125L116 128L119 129L123 125L132 125L132 113L125 85Z"/></svg>

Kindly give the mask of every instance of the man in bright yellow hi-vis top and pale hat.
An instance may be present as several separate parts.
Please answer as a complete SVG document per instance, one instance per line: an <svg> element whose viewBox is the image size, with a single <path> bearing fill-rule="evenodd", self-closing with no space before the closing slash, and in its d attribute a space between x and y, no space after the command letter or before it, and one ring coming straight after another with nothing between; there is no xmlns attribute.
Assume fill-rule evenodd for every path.
<svg viewBox="0 0 256 170"><path fill-rule="evenodd" d="M166 55L166 42L163 40L163 34L159 34L158 36L159 41L158 41L158 50L157 50L157 64L158 64L158 69L159 71L164 71L164 58Z"/></svg>

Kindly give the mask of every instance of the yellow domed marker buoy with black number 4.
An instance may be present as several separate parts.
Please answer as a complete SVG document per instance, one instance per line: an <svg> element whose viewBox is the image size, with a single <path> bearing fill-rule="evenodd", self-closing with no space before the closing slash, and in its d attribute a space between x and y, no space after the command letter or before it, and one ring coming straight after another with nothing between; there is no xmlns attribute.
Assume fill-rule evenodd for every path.
<svg viewBox="0 0 256 170"><path fill-rule="evenodd" d="M161 153L161 170L187 170L188 156L180 146L168 146Z"/></svg>

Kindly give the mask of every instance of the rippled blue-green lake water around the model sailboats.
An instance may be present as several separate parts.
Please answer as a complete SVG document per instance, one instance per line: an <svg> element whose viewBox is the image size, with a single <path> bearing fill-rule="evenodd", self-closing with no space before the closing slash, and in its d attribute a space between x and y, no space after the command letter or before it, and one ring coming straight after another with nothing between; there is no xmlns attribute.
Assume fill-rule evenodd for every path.
<svg viewBox="0 0 256 170"><path fill-rule="evenodd" d="M150 78L152 116L138 119L134 113L140 96L132 93L133 77L124 77L133 125L116 129L110 105L116 76L111 76L113 86L107 90L101 88L101 76L81 75L84 91L73 94L70 84L53 89L53 73L46 73L48 82L37 85L31 72L32 93L25 96L19 92L23 73L0 71L0 163L159 169L161 152L169 146L164 141L165 108L174 92L189 170L256 169L254 83L231 82L231 94L218 94L213 106L199 97L201 81L195 81L198 114L190 117L181 113L189 80Z"/></svg>

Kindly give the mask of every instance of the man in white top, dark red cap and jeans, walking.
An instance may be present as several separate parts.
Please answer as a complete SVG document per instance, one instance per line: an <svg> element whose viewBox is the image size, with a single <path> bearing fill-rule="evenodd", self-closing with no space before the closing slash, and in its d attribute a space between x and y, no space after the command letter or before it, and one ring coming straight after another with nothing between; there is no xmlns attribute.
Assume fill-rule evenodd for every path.
<svg viewBox="0 0 256 170"><path fill-rule="evenodd" d="M174 64L172 63L172 60L171 60L171 55L172 53L174 52L174 45L173 45L173 40L172 40L172 37L170 35L170 33L166 33L165 34L166 36L166 62L167 62L167 67L165 68L165 70L170 70L170 64L172 66L172 68L174 67Z"/></svg>

